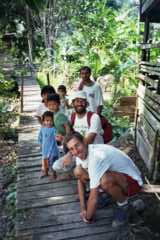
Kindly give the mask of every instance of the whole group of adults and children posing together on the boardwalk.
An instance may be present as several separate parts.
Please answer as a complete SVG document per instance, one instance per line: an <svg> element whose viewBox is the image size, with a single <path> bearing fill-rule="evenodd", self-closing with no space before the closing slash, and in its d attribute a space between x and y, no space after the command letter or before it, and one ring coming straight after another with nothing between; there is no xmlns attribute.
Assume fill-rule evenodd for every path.
<svg viewBox="0 0 160 240"><path fill-rule="evenodd" d="M58 87L57 93L52 86L41 91L42 103L36 114L41 124L38 137L42 145L41 176L57 178L58 171L73 169L82 220L86 223L94 220L99 194L104 191L117 204L112 224L120 226L127 221L129 197L142 188L141 173L125 153L104 144L101 87L91 80L89 67L82 67L80 76L70 101L64 85Z"/></svg>

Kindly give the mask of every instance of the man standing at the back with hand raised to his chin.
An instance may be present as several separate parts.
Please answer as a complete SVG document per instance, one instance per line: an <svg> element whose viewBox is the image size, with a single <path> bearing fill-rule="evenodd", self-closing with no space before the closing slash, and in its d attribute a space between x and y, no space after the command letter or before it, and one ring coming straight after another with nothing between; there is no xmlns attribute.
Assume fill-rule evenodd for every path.
<svg viewBox="0 0 160 240"><path fill-rule="evenodd" d="M80 69L80 76L82 80L78 86L78 90L83 90L86 93L89 103L87 110L100 114L103 106L103 95L100 85L90 79L91 69L87 66Z"/></svg>

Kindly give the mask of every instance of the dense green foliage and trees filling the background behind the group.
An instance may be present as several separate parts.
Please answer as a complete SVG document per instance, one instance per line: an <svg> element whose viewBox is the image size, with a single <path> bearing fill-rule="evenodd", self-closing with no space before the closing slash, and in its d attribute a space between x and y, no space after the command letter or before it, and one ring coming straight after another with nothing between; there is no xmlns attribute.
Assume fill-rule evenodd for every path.
<svg viewBox="0 0 160 240"><path fill-rule="evenodd" d="M71 86L82 65L115 77L114 97L131 95L137 82L138 7L119 0L16 0L0 3L2 22L15 33L12 53L40 63L41 76ZM7 6L9 7L7 9ZM12 36L13 37L13 36ZM44 80L45 81L45 80Z"/></svg>

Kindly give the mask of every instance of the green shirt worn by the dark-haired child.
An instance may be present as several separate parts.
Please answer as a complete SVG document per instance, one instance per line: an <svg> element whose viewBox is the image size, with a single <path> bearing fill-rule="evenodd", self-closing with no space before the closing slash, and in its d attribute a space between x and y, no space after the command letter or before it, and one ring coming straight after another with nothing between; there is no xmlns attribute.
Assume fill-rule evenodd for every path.
<svg viewBox="0 0 160 240"><path fill-rule="evenodd" d="M66 135L64 125L69 125L67 116L61 111L54 113L54 126L57 130L57 134L61 134L62 136Z"/></svg>

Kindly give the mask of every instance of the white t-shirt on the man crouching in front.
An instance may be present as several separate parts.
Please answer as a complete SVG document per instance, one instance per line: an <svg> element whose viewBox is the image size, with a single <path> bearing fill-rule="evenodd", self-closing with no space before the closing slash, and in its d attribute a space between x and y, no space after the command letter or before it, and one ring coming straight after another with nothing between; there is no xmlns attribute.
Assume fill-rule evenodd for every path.
<svg viewBox="0 0 160 240"><path fill-rule="evenodd" d="M134 162L124 152L113 146L89 145L87 158L91 189L100 185L100 179L106 171L125 173L136 180L140 186L143 185L141 173Z"/></svg>

